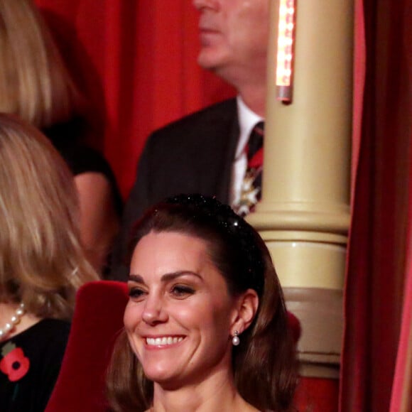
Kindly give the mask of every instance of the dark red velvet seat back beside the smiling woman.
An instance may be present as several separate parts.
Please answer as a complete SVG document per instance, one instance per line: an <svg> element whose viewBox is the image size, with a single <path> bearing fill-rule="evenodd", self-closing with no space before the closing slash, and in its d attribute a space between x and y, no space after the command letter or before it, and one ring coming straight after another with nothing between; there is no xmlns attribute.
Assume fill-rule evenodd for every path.
<svg viewBox="0 0 412 412"><path fill-rule="evenodd" d="M87 283L77 292L67 349L47 412L106 411L105 374L123 327L126 283Z"/></svg>

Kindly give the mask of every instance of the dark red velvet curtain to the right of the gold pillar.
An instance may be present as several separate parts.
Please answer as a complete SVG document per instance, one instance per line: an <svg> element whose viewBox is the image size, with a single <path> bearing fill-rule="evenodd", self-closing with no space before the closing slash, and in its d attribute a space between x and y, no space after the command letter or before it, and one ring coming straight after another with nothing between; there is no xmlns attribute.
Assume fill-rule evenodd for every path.
<svg viewBox="0 0 412 412"><path fill-rule="evenodd" d="M411 251L411 6L411 0L359 0L356 7L356 173L340 401L348 412L389 411L403 302L408 310L412 298L405 282ZM407 332L406 312L404 322ZM400 349L404 359L405 345Z"/></svg>

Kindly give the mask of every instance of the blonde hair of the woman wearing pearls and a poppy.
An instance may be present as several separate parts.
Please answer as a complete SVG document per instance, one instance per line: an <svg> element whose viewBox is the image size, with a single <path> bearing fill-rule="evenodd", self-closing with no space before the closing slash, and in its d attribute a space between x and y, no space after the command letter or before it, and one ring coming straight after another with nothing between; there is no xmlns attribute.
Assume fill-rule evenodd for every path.
<svg viewBox="0 0 412 412"><path fill-rule="evenodd" d="M82 250L73 178L48 139L0 114L0 302L68 319L75 292L98 279Z"/></svg>

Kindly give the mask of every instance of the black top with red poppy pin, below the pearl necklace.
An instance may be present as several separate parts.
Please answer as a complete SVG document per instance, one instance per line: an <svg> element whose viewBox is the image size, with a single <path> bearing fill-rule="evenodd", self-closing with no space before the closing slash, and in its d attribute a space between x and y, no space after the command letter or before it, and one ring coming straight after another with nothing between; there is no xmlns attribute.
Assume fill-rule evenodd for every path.
<svg viewBox="0 0 412 412"><path fill-rule="evenodd" d="M60 371L69 332L69 322L44 319L0 342L1 412L45 410Z"/></svg>

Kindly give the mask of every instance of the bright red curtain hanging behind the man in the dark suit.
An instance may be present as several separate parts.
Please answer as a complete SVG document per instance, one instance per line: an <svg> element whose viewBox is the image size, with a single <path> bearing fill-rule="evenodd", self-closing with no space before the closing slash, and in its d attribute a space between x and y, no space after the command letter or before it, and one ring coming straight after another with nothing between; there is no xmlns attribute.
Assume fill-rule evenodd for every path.
<svg viewBox="0 0 412 412"><path fill-rule="evenodd" d="M234 90L196 63L197 12L187 0L35 0L92 107L90 143L124 197L153 129Z"/></svg>

